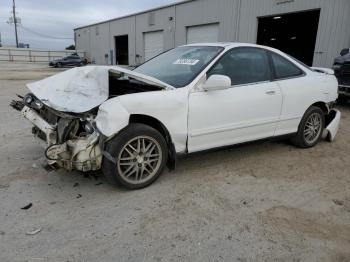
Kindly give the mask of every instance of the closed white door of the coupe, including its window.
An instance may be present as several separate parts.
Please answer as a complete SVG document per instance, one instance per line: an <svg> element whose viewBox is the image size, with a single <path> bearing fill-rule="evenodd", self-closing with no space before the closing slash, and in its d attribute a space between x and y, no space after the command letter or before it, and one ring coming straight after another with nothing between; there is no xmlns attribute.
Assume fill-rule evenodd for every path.
<svg viewBox="0 0 350 262"><path fill-rule="evenodd" d="M207 72L211 75L228 76L232 86L190 93L190 153L274 136L282 94L271 81L264 49L231 49Z"/></svg>

